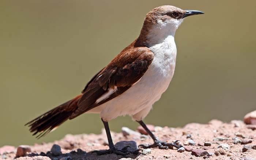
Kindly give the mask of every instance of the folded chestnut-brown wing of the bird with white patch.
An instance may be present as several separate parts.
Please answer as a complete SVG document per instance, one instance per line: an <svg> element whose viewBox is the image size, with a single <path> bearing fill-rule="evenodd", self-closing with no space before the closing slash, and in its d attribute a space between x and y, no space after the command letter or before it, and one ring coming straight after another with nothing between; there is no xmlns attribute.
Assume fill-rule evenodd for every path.
<svg viewBox="0 0 256 160"><path fill-rule="evenodd" d="M108 66L96 74L82 91L78 109L69 119L113 99L129 89L147 71L154 54L147 47L125 48ZM109 93L111 91L111 93ZM106 96L108 94L108 96ZM97 101L102 96L105 98Z"/></svg>

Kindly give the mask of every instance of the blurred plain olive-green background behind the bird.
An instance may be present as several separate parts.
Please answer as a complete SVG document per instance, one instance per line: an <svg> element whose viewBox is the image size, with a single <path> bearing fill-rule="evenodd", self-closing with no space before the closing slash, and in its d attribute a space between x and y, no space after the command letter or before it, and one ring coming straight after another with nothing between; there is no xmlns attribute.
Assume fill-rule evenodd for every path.
<svg viewBox="0 0 256 160"><path fill-rule="evenodd" d="M98 114L83 114L37 140L24 124L80 94L90 78L138 37L160 5L205 12L176 32L174 78L145 122L159 126L242 119L256 108L256 1L1 0L0 146L100 133ZM136 129L130 117L110 129Z"/></svg>

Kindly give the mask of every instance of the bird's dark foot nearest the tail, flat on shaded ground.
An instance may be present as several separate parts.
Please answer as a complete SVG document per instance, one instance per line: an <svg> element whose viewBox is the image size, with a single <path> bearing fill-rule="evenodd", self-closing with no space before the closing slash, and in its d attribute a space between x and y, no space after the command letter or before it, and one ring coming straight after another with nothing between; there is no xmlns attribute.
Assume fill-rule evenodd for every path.
<svg viewBox="0 0 256 160"><path fill-rule="evenodd" d="M111 149L108 149L106 151L93 151L92 153L97 153L97 155L105 155L105 154L115 153L116 155L127 156L130 153L134 154L134 155L138 155L139 151L141 151L141 149L137 149L135 151L128 151L128 148L129 148L129 146L124 147L123 149L111 148Z"/></svg>

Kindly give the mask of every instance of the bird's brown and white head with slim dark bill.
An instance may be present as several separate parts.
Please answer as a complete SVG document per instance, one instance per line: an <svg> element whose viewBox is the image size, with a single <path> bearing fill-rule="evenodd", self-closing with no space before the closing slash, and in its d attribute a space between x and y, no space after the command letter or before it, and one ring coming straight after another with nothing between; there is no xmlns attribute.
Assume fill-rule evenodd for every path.
<svg viewBox="0 0 256 160"><path fill-rule="evenodd" d="M161 40L168 35L174 36L185 17L199 14L204 13L201 11L182 10L171 5L157 7L147 13L140 36L144 36L144 38L153 42Z"/></svg>

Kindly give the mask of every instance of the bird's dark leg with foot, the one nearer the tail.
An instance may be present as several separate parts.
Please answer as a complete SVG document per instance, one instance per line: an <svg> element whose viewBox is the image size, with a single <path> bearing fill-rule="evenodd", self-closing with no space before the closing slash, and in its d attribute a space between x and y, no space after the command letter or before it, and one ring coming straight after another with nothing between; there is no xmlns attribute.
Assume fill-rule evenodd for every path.
<svg viewBox="0 0 256 160"><path fill-rule="evenodd" d="M102 120L102 118L101 118L101 120ZM134 152L128 151L129 146L124 147L123 149L116 149L116 147L113 144L113 140L112 140L112 137L111 137L111 134L110 134L110 129L109 129L108 122L105 122L103 120L102 120L102 122L104 124L106 134L107 134L107 137L108 137L109 149L106 150L106 151L93 151L92 153L96 152L97 155L116 153L117 155L123 155L123 156L129 155L130 153L138 154L138 151L134 151Z"/></svg>

